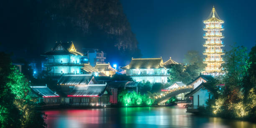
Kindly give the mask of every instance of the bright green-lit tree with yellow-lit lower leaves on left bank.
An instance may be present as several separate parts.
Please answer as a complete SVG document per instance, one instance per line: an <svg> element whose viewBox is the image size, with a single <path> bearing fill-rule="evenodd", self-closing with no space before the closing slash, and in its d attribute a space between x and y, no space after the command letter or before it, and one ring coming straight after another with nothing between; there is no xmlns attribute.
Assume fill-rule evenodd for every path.
<svg viewBox="0 0 256 128"><path fill-rule="evenodd" d="M15 95L14 105L20 110L20 123L23 128L45 128L43 113L37 112L32 98L29 95L31 91L30 83L25 76L20 73L15 67L11 68L8 76L9 82L7 86L10 87L11 93Z"/></svg>

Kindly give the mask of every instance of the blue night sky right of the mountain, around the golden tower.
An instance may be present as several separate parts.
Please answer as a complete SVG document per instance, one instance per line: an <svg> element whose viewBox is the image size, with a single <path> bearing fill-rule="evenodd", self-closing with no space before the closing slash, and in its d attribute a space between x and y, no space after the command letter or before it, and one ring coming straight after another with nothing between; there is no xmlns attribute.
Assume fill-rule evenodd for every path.
<svg viewBox="0 0 256 128"><path fill-rule="evenodd" d="M182 62L188 50L202 53L203 20L212 6L222 20L224 50L256 44L256 1L254 0L121 0L124 13L136 34L143 57L169 56Z"/></svg>

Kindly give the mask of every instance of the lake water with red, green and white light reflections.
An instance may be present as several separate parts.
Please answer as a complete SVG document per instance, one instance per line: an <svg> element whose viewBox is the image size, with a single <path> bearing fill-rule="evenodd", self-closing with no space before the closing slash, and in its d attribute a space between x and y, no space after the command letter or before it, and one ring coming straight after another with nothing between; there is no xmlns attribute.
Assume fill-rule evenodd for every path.
<svg viewBox="0 0 256 128"><path fill-rule="evenodd" d="M256 123L205 118L173 107L45 110L48 128L256 128Z"/></svg>

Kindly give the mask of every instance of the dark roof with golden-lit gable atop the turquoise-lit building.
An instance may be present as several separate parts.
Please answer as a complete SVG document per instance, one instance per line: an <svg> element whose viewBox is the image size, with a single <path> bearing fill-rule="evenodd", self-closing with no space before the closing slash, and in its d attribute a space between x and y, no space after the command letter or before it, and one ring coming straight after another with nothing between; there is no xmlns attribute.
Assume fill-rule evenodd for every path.
<svg viewBox="0 0 256 128"><path fill-rule="evenodd" d="M84 56L84 54L77 51L72 43L56 43L54 48L51 51L45 52L43 55L80 55Z"/></svg>

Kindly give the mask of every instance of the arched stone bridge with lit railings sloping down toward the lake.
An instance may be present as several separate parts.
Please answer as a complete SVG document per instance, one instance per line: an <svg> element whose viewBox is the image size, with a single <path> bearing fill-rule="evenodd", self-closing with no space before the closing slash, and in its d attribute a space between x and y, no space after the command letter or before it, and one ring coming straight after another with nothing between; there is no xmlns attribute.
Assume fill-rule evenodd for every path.
<svg viewBox="0 0 256 128"><path fill-rule="evenodd" d="M169 100L171 97L174 97L181 93L191 92L192 90L193 90L192 86L177 87L172 90L166 91L161 95L157 95L154 98L156 99L156 102L158 103L158 105L161 105L161 104L165 103L167 100Z"/></svg>

